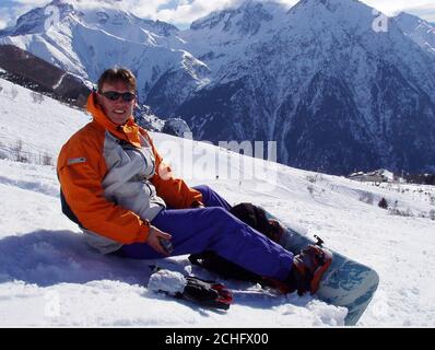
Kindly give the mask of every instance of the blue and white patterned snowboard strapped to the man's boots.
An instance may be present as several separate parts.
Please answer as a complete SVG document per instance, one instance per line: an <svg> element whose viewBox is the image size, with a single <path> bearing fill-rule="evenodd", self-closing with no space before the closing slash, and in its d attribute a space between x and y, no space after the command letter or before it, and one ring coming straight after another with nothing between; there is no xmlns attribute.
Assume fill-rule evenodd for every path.
<svg viewBox="0 0 435 350"><path fill-rule="evenodd" d="M280 221L284 228L284 234L280 244L287 250L298 254L308 244L316 242L310 240L304 230L283 224L282 220L266 211L269 219ZM327 245L324 245L328 248ZM344 319L346 326L356 325L379 284L377 272L333 249L332 264L324 275L319 290L315 294L319 300L336 306L348 308Z"/></svg>

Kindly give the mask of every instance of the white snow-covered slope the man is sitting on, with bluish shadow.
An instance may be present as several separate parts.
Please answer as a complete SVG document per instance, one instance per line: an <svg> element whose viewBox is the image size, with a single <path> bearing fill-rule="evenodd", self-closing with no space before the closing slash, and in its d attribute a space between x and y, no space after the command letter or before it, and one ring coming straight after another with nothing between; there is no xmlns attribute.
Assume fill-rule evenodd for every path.
<svg viewBox="0 0 435 350"><path fill-rule="evenodd" d="M1 130L11 131L11 124L20 130L8 132L7 147L26 136L30 144L55 154L89 119L49 98L35 105L31 92L1 80L0 85ZM15 100L12 89L19 92ZM163 133L153 137L165 160L190 185L208 184L232 203L259 203L284 223L305 228L331 248L375 268L380 285L358 325L435 326L435 272L428 268L435 264L435 224L427 218L435 209L434 187L373 187L198 141ZM180 156L183 149L192 150L191 162ZM0 317L1 326L343 324L343 308L311 296L264 294L257 285L235 281L223 281L235 293L235 304L225 313L152 293L144 287L151 264L216 276L192 268L187 256L138 261L95 253L61 214L58 188L54 166L0 160L0 315L8 315ZM402 215L378 208L381 197Z"/></svg>

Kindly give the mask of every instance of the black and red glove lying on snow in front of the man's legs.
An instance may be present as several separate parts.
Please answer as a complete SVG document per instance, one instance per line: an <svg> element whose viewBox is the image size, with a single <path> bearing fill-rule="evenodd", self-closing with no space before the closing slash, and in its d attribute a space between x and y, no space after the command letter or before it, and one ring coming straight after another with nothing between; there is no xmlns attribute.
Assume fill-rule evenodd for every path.
<svg viewBox="0 0 435 350"><path fill-rule="evenodd" d="M177 296L197 302L201 305L228 310L233 302L231 292L220 283L204 281L197 277L186 277L187 284Z"/></svg>

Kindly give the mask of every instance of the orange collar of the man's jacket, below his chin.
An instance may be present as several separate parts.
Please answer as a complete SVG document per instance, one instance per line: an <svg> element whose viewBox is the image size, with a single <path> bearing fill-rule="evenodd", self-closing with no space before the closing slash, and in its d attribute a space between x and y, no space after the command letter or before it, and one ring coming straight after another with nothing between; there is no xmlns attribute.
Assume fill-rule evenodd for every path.
<svg viewBox="0 0 435 350"><path fill-rule="evenodd" d="M114 124L109 118L107 118L96 103L95 92L92 92L87 97L86 110L92 114L95 122L101 125L118 139L125 140L136 147L141 147L139 126L134 122L133 117L130 117L124 125L118 126Z"/></svg>

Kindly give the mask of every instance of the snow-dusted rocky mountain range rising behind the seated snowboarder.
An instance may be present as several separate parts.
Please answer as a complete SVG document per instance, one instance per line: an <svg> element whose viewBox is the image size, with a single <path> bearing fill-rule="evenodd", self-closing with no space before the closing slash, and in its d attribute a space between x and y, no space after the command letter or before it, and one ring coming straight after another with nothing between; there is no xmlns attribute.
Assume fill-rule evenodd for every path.
<svg viewBox="0 0 435 350"><path fill-rule="evenodd" d="M0 44L90 81L127 66L140 102L196 139L275 140L279 162L331 174L435 170L435 30L419 18L379 27L356 0L248 0L179 31L107 1L47 7L0 31Z"/></svg>

